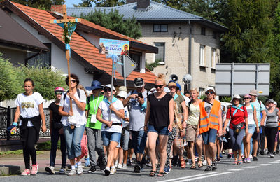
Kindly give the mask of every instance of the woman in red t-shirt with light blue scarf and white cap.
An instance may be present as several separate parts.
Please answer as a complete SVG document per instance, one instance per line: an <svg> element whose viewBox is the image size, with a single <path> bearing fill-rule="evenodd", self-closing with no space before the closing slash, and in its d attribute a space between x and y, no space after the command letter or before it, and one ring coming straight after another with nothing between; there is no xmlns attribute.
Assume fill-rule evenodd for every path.
<svg viewBox="0 0 280 182"><path fill-rule="evenodd" d="M230 138L232 139L232 150L235 155L235 165L242 164L242 139L244 133L248 135L248 113L246 107L240 104L240 102L241 97L239 94L235 94L232 99L232 107L228 109L227 118L223 127L223 134L225 134L228 122L230 121Z"/></svg>

